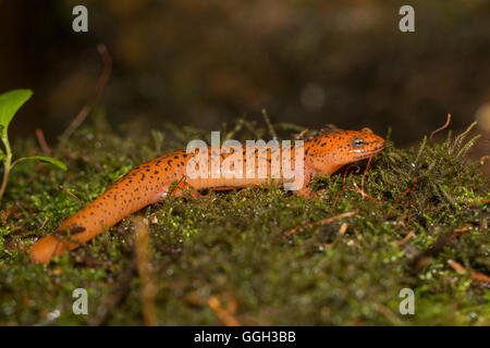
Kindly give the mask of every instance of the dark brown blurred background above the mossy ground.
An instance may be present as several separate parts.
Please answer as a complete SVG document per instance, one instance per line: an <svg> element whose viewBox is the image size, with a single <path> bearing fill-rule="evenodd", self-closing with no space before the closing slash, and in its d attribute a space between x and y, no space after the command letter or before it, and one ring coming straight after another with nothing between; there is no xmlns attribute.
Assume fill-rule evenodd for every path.
<svg viewBox="0 0 490 348"><path fill-rule="evenodd" d="M76 4L86 34L72 30ZM399 30L403 4L415 33ZM13 137L40 127L56 141L94 98L98 44L113 61L99 104L140 134L166 122L217 129L265 108L272 123L309 128L390 125L403 146L448 112L455 129L489 119L488 0L3 0L0 25L0 92L35 91Z"/></svg>

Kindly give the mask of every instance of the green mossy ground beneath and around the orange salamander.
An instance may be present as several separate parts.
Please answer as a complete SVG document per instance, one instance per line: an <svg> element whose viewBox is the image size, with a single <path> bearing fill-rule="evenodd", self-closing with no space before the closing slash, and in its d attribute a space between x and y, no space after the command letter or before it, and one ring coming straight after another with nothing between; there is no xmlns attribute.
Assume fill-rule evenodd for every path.
<svg viewBox="0 0 490 348"><path fill-rule="evenodd" d="M268 138L260 127L225 134ZM131 219L48 265L30 263L27 250L132 166L195 137L209 133L169 128L131 139L96 125L53 149L68 172L40 163L15 169L0 206L0 323L143 324L142 284L131 271ZM373 199L354 186L362 185L364 161L347 172L340 194L344 170L316 179L317 200L280 188L244 188L143 209L158 323L223 324L209 306L215 297L245 325L489 325L488 284L448 264L452 259L467 271L490 274L489 204L478 203L490 199L489 181L477 163L462 164L465 153L457 152L465 141L406 150L389 142L365 176L364 190ZM14 146L17 154L36 148L34 141ZM284 237L293 227L355 209L353 216ZM343 223L348 227L339 234ZM414 254L464 226L465 233L414 265ZM88 291L88 315L72 312L72 291L81 287ZM415 291L414 315L399 312L399 293L406 287Z"/></svg>

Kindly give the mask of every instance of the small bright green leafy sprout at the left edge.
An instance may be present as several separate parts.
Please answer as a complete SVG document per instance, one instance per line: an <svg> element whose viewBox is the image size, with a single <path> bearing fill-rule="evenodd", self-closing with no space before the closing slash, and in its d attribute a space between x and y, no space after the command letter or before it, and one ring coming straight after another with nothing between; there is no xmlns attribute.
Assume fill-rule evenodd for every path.
<svg viewBox="0 0 490 348"><path fill-rule="evenodd" d="M9 174L12 169L22 161L38 160L54 164L56 166L66 170L66 165L57 159L46 156L33 156L16 159L12 162L12 150L10 149L8 128L17 110L30 98L33 91L29 89L15 89L0 95L0 138L5 150L0 149L0 161L3 162L3 179L0 186L0 199L5 192Z"/></svg>

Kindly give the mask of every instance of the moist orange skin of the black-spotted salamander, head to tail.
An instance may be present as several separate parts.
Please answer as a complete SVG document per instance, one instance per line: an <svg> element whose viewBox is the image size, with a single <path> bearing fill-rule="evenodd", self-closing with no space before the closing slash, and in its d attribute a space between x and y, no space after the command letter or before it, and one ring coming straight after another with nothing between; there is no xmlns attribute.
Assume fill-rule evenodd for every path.
<svg viewBox="0 0 490 348"><path fill-rule="evenodd" d="M93 239L133 212L158 202L169 195L182 196L183 189L186 188L197 192L201 189L233 189L260 186L266 183L283 184L285 179L282 177L271 178L271 160L279 159L281 167L289 165L294 170L297 151L302 149L304 149L303 186L293 192L311 197L307 185L313 176L330 175L345 164L379 153L384 149L384 139L367 128L360 132L333 132L305 141L304 145L293 145L290 160L282 158L280 149L265 148L253 153L247 153L245 148L242 151L222 151L225 153L221 154L220 161L234 157L243 163L244 173L246 163L252 157L256 173L259 165L258 159L265 159L266 161L262 162L267 166L265 178L246 178L245 174L243 178L226 178L223 177L224 175L212 178L211 174L216 173L211 172L211 165L208 166L207 178L192 178L186 175L186 167L187 162L194 158L194 153L182 150L163 154L133 169L100 197L69 217L57 231L39 239L30 249L30 260L49 262L53 257L61 256ZM219 149L208 148L209 153L217 150ZM70 232L70 239L66 232Z"/></svg>

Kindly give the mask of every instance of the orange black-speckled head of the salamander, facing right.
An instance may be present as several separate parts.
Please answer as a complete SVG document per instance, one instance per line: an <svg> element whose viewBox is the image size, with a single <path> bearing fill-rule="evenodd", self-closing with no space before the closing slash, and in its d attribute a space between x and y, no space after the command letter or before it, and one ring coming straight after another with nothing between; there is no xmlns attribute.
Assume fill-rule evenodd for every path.
<svg viewBox="0 0 490 348"><path fill-rule="evenodd" d="M305 160L321 174L332 174L345 164L378 154L384 149L384 139L369 128L332 132L306 145Z"/></svg>

